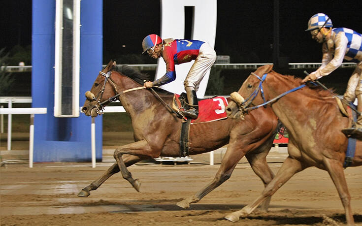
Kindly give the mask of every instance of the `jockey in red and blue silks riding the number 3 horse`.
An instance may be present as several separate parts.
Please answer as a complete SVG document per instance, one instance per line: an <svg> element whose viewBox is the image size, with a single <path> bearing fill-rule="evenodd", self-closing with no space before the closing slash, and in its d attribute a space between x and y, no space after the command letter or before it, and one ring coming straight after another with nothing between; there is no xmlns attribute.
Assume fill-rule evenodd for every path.
<svg viewBox="0 0 362 226"><path fill-rule="evenodd" d="M145 82L147 88L165 85L176 79L175 65L195 60L184 81L190 109L183 111L187 118L196 119L198 116L198 102L196 91L199 84L216 60L215 50L207 42L199 40L185 40L168 38L162 40L157 34L147 35L142 41L143 53L154 59L162 57L166 63L166 73L153 82ZM143 54L142 53L142 54Z"/></svg>

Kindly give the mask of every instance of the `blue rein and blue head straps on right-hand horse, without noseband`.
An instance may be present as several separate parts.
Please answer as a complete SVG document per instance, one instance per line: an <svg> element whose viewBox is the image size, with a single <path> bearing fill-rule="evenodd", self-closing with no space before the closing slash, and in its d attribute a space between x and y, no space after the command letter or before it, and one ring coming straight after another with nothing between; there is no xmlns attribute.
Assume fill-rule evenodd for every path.
<svg viewBox="0 0 362 226"><path fill-rule="evenodd" d="M280 97L283 97L283 96L285 96L285 95L287 95L287 94L289 94L289 93L292 93L292 92L294 92L294 91L296 91L296 90L299 90L299 89L305 87L305 84L300 85L300 86L298 86L298 87L296 87L296 88L293 88L293 89L291 89L291 90L288 90L287 92L284 92L284 93L278 95L277 97L272 98L271 100L265 101L264 91L263 91L263 86L262 86L262 84L263 84L263 81L264 81L265 78L266 78L267 73L263 74L262 77L259 77L257 74L255 74L255 73L253 73L253 72L252 72L252 74L253 74L254 76L256 76L257 78L259 78L260 83L259 83L258 88L254 90L254 92L250 95L250 97L248 97L244 102L242 102L241 105L246 106L246 108L244 108L244 111L254 110L254 109L256 109L256 108L265 106L266 104L271 103L271 102L274 102L275 100L279 99ZM259 90L260 90L260 93L262 94L262 97L263 97L263 101L264 101L264 102L263 102L262 104L257 105L257 106L247 107L247 106L254 100L254 98L258 95ZM245 104L250 98L251 98L250 102L249 102L248 104Z"/></svg>

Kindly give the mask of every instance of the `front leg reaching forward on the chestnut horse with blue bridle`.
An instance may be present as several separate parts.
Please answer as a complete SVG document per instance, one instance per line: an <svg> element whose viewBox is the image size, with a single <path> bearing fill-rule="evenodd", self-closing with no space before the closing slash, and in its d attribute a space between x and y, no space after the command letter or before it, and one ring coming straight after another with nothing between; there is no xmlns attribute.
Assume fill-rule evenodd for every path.
<svg viewBox="0 0 362 226"><path fill-rule="evenodd" d="M246 217L251 214L263 201L273 195L283 184L285 184L294 174L306 168L300 161L288 157L278 170L278 173L265 187L262 194L257 197L251 204L245 206L239 211L225 216L225 219L231 222L237 222L240 217Z"/></svg>

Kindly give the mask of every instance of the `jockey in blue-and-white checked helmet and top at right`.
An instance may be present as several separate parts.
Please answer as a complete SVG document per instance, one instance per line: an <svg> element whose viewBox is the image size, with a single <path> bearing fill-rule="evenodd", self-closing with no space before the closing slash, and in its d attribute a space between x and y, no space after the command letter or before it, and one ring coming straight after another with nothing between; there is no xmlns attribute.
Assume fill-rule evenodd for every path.
<svg viewBox="0 0 362 226"><path fill-rule="evenodd" d="M357 110L362 112L362 35L348 28L333 28L332 21L324 13L313 15L308 21L312 38L322 43L322 65L306 76L302 82L316 80L337 69L343 59L357 63L348 81L343 96L348 102L358 99ZM362 115L358 116L356 128L342 129L346 135L362 136Z"/></svg>

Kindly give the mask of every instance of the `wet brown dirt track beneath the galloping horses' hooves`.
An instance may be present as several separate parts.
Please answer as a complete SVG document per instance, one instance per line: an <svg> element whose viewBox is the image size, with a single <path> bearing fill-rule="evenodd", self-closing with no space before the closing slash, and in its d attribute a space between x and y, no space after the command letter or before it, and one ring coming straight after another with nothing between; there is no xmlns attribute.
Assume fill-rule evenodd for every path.
<svg viewBox="0 0 362 226"><path fill-rule="evenodd" d="M344 210L326 171L306 169L287 182L271 200L269 212L258 209L233 224L223 219L263 190L248 164L238 164L231 178L191 208L176 202L195 194L219 165L136 165L141 192L116 174L86 198L78 192L111 163L8 164L1 167L1 225L333 225L345 221ZM280 163L269 164L274 172ZM357 225L362 225L361 167L344 172Z"/></svg>

